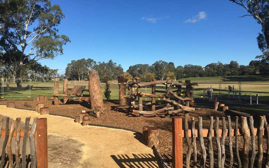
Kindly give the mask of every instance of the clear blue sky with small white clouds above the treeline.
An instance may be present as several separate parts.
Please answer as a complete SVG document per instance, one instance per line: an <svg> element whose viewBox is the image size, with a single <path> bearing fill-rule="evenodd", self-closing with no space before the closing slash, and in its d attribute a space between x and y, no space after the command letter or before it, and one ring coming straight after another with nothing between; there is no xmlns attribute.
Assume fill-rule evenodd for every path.
<svg viewBox="0 0 269 168"><path fill-rule="evenodd" d="M59 34L71 43L64 55L40 60L64 74L71 60L113 60L126 71L130 65L164 60L175 66L230 60L247 65L261 51L261 26L246 11L228 0L130 1L52 0L65 18Z"/></svg>

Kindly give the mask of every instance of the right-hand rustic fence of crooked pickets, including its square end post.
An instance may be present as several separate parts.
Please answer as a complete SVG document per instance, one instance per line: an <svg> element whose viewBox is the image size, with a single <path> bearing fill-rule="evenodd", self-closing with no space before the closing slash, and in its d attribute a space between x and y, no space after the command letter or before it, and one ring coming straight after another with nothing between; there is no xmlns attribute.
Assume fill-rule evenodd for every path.
<svg viewBox="0 0 269 168"><path fill-rule="evenodd" d="M186 152L186 168L190 167L191 154L193 152L192 167L196 168L197 163L200 163L200 167L210 167L215 166L224 167L243 167L243 168L253 168L254 167L269 167L269 125L267 124L266 118L264 116L259 117L258 128L254 128L253 117L241 117L240 129L238 129L238 117L235 117L235 128L232 128L231 117L227 116L228 119L228 129L226 127L226 117L222 117L223 128L219 129L219 117L210 117L210 128L203 129L202 117L198 117L198 130L195 128L195 118L191 117L191 129L189 129L188 124L188 114L185 117L173 117L172 118L172 148L173 148L173 168L183 167L183 137L186 139L186 146L188 148ZM182 128L183 119L183 128ZM265 130L265 131L264 131ZM197 162L197 147L196 147L196 135L199 138L199 144L201 148L201 160ZM258 152L256 151L255 136L257 135ZM266 135L266 136L263 136ZM235 136L235 149L233 149L233 139ZM243 137L243 149L239 151L238 137ZM204 143L204 137L208 139L208 143ZM214 162L214 150L213 150L213 140L215 137L215 143L217 146L217 158ZM226 137L229 139L229 144L225 144ZM220 140L221 139L221 140ZM267 153L266 156L263 154L264 144L263 141L267 140ZM250 153L250 144L252 149ZM185 145L184 145L185 146ZM229 152L226 157L225 146L229 146ZM208 148L206 150L206 147ZM234 156L234 150L236 156ZM249 153L251 154L249 156ZM257 155L257 156L256 156ZM216 155L215 155L216 156ZM256 159L255 159L256 158ZM206 159L209 159L208 164L206 164ZM226 160L225 160L226 159ZM224 163L228 162L224 165ZM236 161L236 164L235 162ZM263 162L262 162L263 161ZM254 165L255 162L255 165ZM256 164L257 163L257 164ZM215 165L215 166L214 166Z"/></svg>

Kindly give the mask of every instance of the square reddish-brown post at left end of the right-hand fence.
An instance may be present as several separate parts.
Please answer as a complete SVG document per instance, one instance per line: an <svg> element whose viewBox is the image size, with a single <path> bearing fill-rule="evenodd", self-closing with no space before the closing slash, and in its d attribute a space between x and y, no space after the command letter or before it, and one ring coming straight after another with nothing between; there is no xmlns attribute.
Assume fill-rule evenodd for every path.
<svg viewBox="0 0 269 168"><path fill-rule="evenodd" d="M173 168L183 168L182 118L172 117Z"/></svg>

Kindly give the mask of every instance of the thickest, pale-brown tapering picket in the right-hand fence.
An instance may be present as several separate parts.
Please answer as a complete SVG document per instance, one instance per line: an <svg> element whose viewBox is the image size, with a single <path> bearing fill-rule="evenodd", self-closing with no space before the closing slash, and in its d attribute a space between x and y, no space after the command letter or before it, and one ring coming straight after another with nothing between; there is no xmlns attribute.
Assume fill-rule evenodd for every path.
<svg viewBox="0 0 269 168"><path fill-rule="evenodd" d="M241 117L242 119L242 135L244 139L242 160L243 160L243 168L248 168L248 152L249 152L249 141L250 141L250 133L248 129L247 117Z"/></svg>

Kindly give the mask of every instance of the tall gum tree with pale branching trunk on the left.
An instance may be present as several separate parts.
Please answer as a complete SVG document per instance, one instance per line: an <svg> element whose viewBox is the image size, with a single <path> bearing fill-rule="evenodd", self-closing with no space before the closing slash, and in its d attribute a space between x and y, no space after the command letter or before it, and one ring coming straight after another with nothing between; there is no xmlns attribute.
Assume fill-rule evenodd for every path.
<svg viewBox="0 0 269 168"><path fill-rule="evenodd" d="M17 79L27 64L63 54L63 45L70 42L57 34L63 18L60 6L52 6L49 0L0 0L0 50L19 53L6 54L13 57Z"/></svg>

